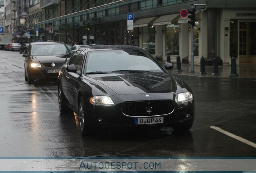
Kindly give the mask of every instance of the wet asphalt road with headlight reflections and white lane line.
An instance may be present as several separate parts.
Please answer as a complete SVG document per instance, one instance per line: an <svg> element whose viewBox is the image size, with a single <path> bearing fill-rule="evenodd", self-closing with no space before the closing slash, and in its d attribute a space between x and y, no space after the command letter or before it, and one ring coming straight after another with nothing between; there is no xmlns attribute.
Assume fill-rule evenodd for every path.
<svg viewBox="0 0 256 173"><path fill-rule="evenodd" d="M194 92L190 131L104 130L83 137L77 117L58 110L56 81L29 85L23 63L19 52L0 50L1 157L256 157L256 79L176 75Z"/></svg>

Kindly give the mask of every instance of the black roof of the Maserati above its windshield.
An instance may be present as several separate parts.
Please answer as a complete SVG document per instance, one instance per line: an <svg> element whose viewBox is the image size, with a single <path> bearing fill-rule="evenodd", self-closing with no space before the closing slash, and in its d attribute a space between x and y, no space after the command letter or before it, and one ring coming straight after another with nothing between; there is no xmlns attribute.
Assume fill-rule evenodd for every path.
<svg viewBox="0 0 256 173"><path fill-rule="evenodd" d="M144 49L142 49L138 46L130 46L130 45L95 45L95 46L82 47L80 49L87 49L88 51L93 51L93 50L123 50L123 49L144 50Z"/></svg>

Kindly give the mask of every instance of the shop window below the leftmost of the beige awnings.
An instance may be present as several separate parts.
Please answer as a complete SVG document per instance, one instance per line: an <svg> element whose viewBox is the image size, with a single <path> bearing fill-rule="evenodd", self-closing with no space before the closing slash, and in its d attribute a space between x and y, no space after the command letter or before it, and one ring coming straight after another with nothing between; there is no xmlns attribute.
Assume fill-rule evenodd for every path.
<svg viewBox="0 0 256 173"><path fill-rule="evenodd" d="M142 27L142 43L143 48L150 54L155 54L155 27Z"/></svg>

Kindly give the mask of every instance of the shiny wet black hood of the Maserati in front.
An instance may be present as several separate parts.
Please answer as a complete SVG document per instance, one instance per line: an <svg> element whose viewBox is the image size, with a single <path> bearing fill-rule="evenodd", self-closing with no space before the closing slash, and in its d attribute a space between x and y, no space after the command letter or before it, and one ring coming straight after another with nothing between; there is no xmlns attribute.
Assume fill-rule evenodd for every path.
<svg viewBox="0 0 256 173"><path fill-rule="evenodd" d="M173 88L171 76L163 72L91 74L90 77L118 95L170 93Z"/></svg>

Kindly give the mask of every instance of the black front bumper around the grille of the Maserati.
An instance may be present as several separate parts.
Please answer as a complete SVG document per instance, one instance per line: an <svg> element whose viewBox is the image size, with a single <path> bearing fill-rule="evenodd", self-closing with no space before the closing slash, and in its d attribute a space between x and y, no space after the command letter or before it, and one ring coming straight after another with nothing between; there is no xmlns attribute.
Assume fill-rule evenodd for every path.
<svg viewBox="0 0 256 173"><path fill-rule="evenodd" d="M114 107L100 107L89 105L86 114L87 126L98 127L165 127L175 124L191 124L194 121L194 104L186 103L186 106L176 107L173 113L162 116L163 123L136 125L135 118L127 117L121 112L121 105ZM147 116L151 118L151 116Z"/></svg>

